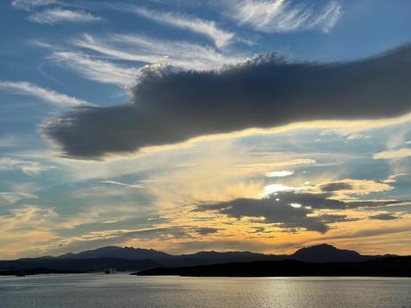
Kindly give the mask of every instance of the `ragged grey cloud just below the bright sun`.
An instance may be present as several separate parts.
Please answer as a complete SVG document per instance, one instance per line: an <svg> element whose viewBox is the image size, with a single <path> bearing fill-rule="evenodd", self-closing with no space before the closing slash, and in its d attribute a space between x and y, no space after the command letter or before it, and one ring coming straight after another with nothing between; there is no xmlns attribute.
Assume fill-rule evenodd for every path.
<svg viewBox="0 0 411 308"><path fill-rule="evenodd" d="M342 202L327 199L326 196L314 194L279 193L263 199L239 198L217 204L200 204L198 212L216 211L221 214L241 219L264 218L262 223L278 224L281 228L304 228L325 233L328 223L349 221L345 215L313 216L313 209L306 205L315 204L320 207L341 207ZM301 204L301 206L293 206Z"/></svg>

